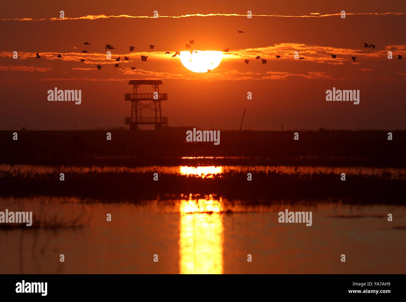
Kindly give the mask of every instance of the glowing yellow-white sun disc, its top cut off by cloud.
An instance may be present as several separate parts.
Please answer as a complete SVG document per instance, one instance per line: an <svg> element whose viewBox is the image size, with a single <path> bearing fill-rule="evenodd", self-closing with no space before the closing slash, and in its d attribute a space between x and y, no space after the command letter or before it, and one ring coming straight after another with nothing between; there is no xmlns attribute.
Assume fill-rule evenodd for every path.
<svg viewBox="0 0 406 302"><path fill-rule="evenodd" d="M196 53L197 52L197 53ZM196 50L180 52L180 61L184 67L193 72L207 72L220 65L223 53L216 50Z"/></svg>

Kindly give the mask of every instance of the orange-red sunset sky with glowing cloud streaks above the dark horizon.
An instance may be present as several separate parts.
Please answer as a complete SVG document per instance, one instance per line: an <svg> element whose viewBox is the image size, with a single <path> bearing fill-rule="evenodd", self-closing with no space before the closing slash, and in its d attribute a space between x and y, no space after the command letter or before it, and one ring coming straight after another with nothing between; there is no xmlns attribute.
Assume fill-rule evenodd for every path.
<svg viewBox="0 0 406 302"><path fill-rule="evenodd" d="M279 130L282 123L284 129L357 129L358 122L364 129L404 127L406 60L396 60L398 54L406 57L404 1L43 3L48 4L2 4L0 129L123 126L124 116L130 115L130 103L123 95L132 92L127 84L130 79L163 81L160 92L169 95L162 112L169 126L238 129L247 108L244 129ZM51 20L59 17L60 10L68 19ZM155 10L173 17L137 17L152 16ZM268 16L176 17L244 15L248 10ZM342 10L346 19L320 16ZM127 16L69 19L123 14ZM5 20L24 18L34 20ZM185 50L190 39L195 39L197 50L229 47L230 52L212 73L193 73L179 58L164 54ZM85 41L92 45L83 45ZM377 47L364 48L364 42ZM113 60L106 59L105 44L117 48L112 58L130 56L131 61L113 68ZM149 44L157 47L149 50ZM137 47L136 52L130 53L128 45ZM387 58L389 50L392 60ZM16 60L13 51L18 52ZM307 60L295 60L295 51ZM43 59L35 59L36 52ZM64 59L56 60L56 54ZM277 60L276 54L282 59ZM147 55L149 62L141 62L140 55ZM270 61L262 65L254 59L256 55ZM358 57L355 63L351 56ZM253 61L246 65L244 59ZM104 66L101 71L95 67L98 64ZM131 66L138 70L132 71ZM48 102L47 91L54 87L82 90L82 104ZM325 91L333 87L360 90L360 104L327 102ZM246 99L248 91L253 93L252 100Z"/></svg>

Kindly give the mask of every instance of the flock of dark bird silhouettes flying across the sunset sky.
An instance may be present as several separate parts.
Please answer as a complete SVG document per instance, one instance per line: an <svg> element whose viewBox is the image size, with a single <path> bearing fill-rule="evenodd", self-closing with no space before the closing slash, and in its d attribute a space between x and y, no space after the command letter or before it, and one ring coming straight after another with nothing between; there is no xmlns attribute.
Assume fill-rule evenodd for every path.
<svg viewBox="0 0 406 302"><path fill-rule="evenodd" d="M245 34L245 32L242 31L242 30L237 30L237 32L240 33L240 34ZM89 42L84 42L83 44L84 44L84 45L91 45L91 43L89 43ZM192 49L192 45L194 45L194 44L195 44L195 43L194 43L194 39L193 39L193 40L190 40L188 44L185 44L185 48L186 48L186 50L189 50L189 51L190 51L190 54L193 54L193 52L194 52L194 53L197 53L197 51L195 51L195 50ZM134 46L128 46L128 47L130 47L130 52L134 51L134 49L137 48L137 47L134 47ZM157 47L157 46L156 46L156 45L152 45L152 44L149 45L149 49L152 49L152 50L153 50L154 47ZM373 49L375 49L376 45L375 45L375 44L364 43L364 47L365 47L365 48L370 48L370 47L372 47ZM117 48L114 48L114 46L112 46L112 45L110 45L110 44L106 44L106 48L105 48L105 49L106 49L106 50L112 50L112 49L117 50ZM225 48L225 49L224 49L224 52L229 52L229 47L228 47L228 48ZM88 52L87 50L82 50L82 53L89 53L89 52ZM171 54L171 52L165 52L165 54ZM172 56L172 58L174 58L174 57L176 57L176 56L180 56L180 52L179 52L179 51L175 52L175 54ZM275 57L276 57L276 59L282 58L282 57L279 56L279 55L276 55ZM337 55L331 54L331 57L332 57L333 59L336 59L336 58L337 58ZM38 54L38 52L37 52L37 57L36 57L36 58L37 58L37 59L42 59L41 56ZM63 59L64 57L63 57L62 55L58 54L58 55L56 56L56 58L62 58L62 59ZM141 61L148 61L147 58L148 58L148 56L141 56ZM261 60L262 64L266 64L266 62L269 61L269 60L266 60L266 59L264 59L264 58L261 58L261 56L256 56L255 59L256 59L256 60ZM300 57L299 59L300 59L300 60L307 60L307 58L304 58L304 57ZM352 56L351 59L355 62L355 59L358 59L358 57ZM404 58L402 58L402 55L400 55L400 54L397 55L397 59L398 59L398 60L404 60ZM124 60L125 60L125 61L129 61L130 58L127 57L127 56L124 56ZM248 63L251 62L251 61L252 61L252 60L245 59L245 60L244 60L244 63L248 64ZM80 59L80 62L87 62L87 61L86 61L85 59ZM123 61L121 61L121 60L120 60L120 57L118 57L118 58L116 58L116 62L123 62ZM97 69L99 69L99 70L101 70L102 68L104 68L104 66L101 66L101 65L96 65L96 67L97 67ZM120 66L120 63L114 63L114 67L121 67L121 66ZM137 70L136 67L130 67L130 68L131 68L132 70ZM207 69L207 72L212 72L212 71L211 71L211 69Z"/></svg>

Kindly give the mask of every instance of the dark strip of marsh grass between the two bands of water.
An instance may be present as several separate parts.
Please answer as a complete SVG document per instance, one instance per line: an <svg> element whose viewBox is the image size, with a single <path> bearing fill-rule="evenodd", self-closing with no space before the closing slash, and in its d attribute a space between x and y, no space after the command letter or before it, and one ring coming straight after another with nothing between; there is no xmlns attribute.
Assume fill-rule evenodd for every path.
<svg viewBox="0 0 406 302"><path fill-rule="evenodd" d="M406 197L406 180L396 179L392 173L383 176L348 174L346 181L340 175L319 171L294 174L267 171L253 173L247 181L246 173L230 172L213 178L162 174L153 181L152 173L68 172L65 181L59 173L35 171L1 171L1 196L76 196L102 200L145 200L157 196L180 194L216 194L228 200L269 201L289 199L340 198L350 203L402 203Z"/></svg>

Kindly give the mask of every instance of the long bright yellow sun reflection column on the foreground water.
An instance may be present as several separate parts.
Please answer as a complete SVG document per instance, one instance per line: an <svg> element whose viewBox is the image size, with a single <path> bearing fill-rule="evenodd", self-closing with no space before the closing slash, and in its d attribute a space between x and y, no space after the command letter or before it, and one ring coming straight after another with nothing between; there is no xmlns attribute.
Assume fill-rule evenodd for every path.
<svg viewBox="0 0 406 302"><path fill-rule="evenodd" d="M222 200L214 200L210 196L207 199L181 200L180 274L223 273L222 209Z"/></svg>

